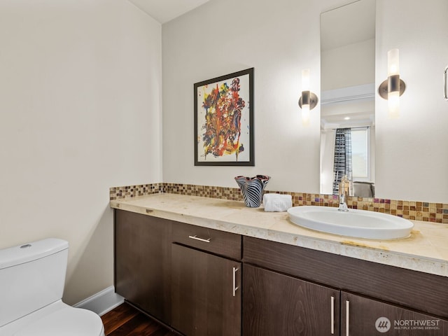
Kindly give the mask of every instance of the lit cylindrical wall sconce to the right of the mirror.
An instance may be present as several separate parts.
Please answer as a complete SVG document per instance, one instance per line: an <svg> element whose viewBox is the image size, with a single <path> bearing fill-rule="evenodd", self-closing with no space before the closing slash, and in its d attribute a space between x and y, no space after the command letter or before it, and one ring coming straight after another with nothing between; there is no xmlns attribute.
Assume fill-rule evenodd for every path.
<svg viewBox="0 0 448 336"><path fill-rule="evenodd" d="M398 49L387 52L387 80L378 87L381 98L388 100L388 111L391 118L400 116L400 96L406 90L406 84L400 79L400 53Z"/></svg>

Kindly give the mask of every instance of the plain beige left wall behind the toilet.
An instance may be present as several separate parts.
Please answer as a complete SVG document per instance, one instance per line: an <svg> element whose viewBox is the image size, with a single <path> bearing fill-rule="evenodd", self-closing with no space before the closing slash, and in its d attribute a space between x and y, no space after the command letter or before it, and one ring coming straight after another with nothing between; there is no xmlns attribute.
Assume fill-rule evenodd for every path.
<svg viewBox="0 0 448 336"><path fill-rule="evenodd" d="M0 2L0 248L68 240L69 304L113 284L109 188L162 180L160 38L123 0Z"/></svg>

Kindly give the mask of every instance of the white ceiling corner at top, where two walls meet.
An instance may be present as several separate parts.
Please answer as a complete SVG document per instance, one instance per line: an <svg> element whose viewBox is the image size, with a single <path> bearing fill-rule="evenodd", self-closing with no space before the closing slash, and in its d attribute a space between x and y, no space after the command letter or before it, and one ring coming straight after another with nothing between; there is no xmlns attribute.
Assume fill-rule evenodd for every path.
<svg viewBox="0 0 448 336"><path fill-rule="evenodd" d="M173 20L209 0L129 0L161 24Z"/></svg>

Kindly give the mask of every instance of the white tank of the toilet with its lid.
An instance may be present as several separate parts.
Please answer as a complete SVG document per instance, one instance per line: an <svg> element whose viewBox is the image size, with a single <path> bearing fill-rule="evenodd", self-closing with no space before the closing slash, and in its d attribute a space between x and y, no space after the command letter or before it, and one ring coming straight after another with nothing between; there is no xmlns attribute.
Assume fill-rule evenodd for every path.
<svg viewBox="0 0 448 336"><path fill-rule="evenodd" d="M62 299L68 255L55 238L0 250L0 327Z"/></svg>

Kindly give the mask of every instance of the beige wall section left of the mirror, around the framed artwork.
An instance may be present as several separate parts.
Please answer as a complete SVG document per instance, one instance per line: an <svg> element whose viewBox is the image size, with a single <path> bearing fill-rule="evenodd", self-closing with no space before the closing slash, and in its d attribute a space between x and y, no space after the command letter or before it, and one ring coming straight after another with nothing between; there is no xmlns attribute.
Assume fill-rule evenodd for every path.
<svg viewBox="0 0 448 336"><path fill-rule="evenodd" d="M269 190L318 193L320 108L303 127L297 102L302 69L319 91L319 15L337 2L212 0L162 26L165 182L237 187L237 175L266 174ZM194 167L193 83L251 67L255 167Z"/></svg>

